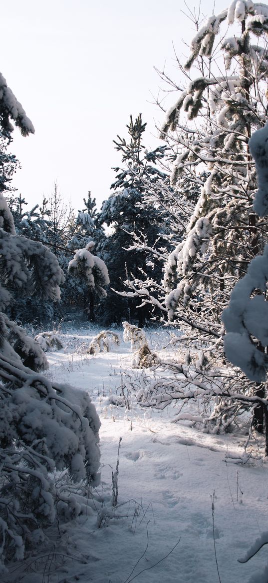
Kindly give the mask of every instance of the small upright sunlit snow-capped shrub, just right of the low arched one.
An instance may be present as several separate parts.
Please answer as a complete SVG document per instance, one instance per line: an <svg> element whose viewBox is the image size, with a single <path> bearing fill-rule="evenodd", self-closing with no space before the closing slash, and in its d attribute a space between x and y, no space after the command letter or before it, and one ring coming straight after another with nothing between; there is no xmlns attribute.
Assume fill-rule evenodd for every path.
<svg viewBox="0 0 268 583"><path fill-rule="evenodd" d="M132 366L134 368L149 368L158 363L156 354L149 349L144 330L134 324L128 324L128 322L123 322L123 326L124 342L131 343Z"/></svg>

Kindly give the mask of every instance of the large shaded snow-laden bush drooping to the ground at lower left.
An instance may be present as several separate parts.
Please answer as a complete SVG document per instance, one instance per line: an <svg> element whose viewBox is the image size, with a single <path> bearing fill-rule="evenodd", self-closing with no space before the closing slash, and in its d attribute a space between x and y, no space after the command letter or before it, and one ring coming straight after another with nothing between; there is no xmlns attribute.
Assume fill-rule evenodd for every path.
<svg viewBox="0 0 268 583"><path fill-rule="evenodd" d="M74 482L98 483L100 423L86 392L53 385L3 354L0 367L1 573L9 559L23 558L33 538L44 538L59 502L67 512L55 470L66 469Z"/></svg>

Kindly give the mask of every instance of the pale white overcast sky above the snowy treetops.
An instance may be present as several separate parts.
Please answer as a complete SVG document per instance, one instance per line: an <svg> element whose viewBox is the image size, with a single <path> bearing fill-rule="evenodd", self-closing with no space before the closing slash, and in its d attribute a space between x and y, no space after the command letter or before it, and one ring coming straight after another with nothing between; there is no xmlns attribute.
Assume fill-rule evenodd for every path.
<svg viewBox="0 0 268 583"><path fill-rule="evenodd" d="M228 3L216 0L215 13ZM74 208L88 190L101 206L115 177L110 168L120 165L112 141L127 136L130 114L142 113L145 145L155 147L163 114L150 103L160 84L153 66L166 62L171 72L172 41L178 57L187 55L182 39L195 34L181 10L178 0L2 2L0 71L35 127L28 138L15 130L12 145L22 164L13 184L29 206L49 196L55 181ZM212 14L212 0L202 12Z"/></svg>

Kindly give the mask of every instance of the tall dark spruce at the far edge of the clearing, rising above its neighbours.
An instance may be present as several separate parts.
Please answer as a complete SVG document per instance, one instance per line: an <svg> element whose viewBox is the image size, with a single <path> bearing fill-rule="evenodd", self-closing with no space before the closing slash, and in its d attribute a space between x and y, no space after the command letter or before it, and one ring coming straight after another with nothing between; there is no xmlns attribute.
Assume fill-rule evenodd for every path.
<svg viewBox="0 0 268 583"><path fill-rule="evenodd" d="M120 136L114 141L123 166L114 168L117 174L111 189L115 192L103 202L98 216L99 224L111 227L111 233L98 247L110 276L110 291L104 307L108 323L138 319L139 325L144 325L149 317L149 307L137 309L139 302L131 292L116 296L113 290L120 291L126 277L133 280L148 272L155 279L161 277L161 266L154 265L149 249L160 247L161 231L165 233L165 226L161 224L156 206L144 202L150 189L160 191L167 180L166 174L156 167L156 162L165 156L166 148L159 146L153 151L146 150L142 143L145 128L141 114L135 121L130 116L127 125L129 141ZM133 245L133 237L142 240L142 244Z"/></svg>

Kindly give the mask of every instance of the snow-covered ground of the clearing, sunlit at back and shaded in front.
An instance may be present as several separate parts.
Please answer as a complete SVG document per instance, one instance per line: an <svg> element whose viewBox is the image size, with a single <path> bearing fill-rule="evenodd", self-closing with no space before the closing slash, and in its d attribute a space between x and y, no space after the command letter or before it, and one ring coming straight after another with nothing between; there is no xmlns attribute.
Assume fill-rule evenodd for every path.
<svg viewBox="0 0 268 583"><path fill-rule="evenodd" d="M238 559L268 530L267 462L235 463L244 451L242 434L202 433L172 423L176 409L142 409L133 387L142 375L160 373L132 369L127 343L84 354L96 333L60 336L65 348L48 353L47 374L87 389L97 407L101 484L93 497L80 490L88 496L87 512L51 528L49 545L14 564L6 582L239 583L254 577L265 583L256 575L267 564L267 546L248 563ZM166 331L148 332L148 340L158 354L169 345ZM166 357L170 351L169 345Z"/></svg>

